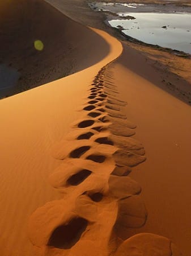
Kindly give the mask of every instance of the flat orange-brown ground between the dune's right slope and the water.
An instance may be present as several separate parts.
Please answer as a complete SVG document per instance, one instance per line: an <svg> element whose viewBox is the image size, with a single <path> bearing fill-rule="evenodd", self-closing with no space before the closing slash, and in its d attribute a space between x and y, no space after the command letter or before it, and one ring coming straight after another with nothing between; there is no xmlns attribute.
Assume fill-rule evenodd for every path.
<svg viewBox="0 0 191 256"><path fill-rule="evenodd" d="M131 69L141 75L146 80L153 82L166 92L191 105L191 76L190 76L190 57L184 58L172 53L159 51L154 47L144 46L143 44L135 44L133 42L125 42L128 47L134 48L142 56L142 68L137 69L135 65L131 65ZM155 69L155 75L150 75L149 68L143 68L147 63L151 69ZM154 74L155 74L154 73Z"/></svg>

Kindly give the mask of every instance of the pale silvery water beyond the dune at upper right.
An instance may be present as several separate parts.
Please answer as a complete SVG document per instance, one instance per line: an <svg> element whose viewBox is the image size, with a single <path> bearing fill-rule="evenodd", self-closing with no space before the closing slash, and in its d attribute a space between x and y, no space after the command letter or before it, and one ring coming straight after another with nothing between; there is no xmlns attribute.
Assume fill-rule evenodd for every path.
<svg viewBox="0 0 191 256"><path fill-rule="evenodd" d="M122 15L122 13L120 13ZM127 14L124 14L127 15ZM135 39L191 53L191 14L128 13L134 20L109 20Z"/></svg>

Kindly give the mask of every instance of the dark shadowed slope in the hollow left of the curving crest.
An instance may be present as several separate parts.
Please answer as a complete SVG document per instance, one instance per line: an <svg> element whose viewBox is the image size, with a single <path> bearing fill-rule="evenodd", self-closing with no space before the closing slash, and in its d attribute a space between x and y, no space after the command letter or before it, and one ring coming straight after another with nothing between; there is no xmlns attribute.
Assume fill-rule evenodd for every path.
<svg viewBox="0 0 191 256"><path fill-rule="evenodd" d="M109 53L103 38L41 0L1 1L0 37L0 98L90 67ZM36 40L43 50L35 49Z"/></svg>

